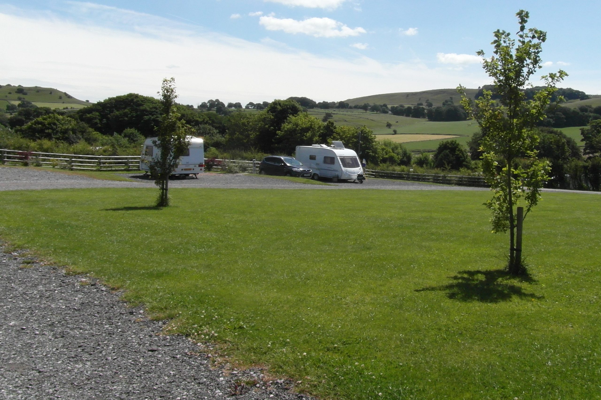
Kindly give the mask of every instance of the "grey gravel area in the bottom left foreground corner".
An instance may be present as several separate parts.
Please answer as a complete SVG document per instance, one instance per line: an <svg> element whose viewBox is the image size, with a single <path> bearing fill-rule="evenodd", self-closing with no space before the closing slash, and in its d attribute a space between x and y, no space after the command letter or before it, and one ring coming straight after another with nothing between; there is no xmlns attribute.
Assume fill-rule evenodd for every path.
<svg viewBox="0 0 601 400"><path fill-rule="evenodd" d="M92 279L2 246L0 275L2 399L308 399L210 344L161 335L165 321Z"/></svg>

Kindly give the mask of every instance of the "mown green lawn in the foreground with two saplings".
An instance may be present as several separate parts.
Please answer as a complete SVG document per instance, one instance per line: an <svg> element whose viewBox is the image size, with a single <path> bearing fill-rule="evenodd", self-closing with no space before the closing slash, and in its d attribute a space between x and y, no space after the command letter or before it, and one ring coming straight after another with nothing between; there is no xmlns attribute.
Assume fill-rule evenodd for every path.
<svg viewBox="0 0 601 400"><path fill-rule="evenodd" d="M323 398L601 393L598 195L545 193L510 279L486 191L169 192L0 192L0 237Z"/></svg>

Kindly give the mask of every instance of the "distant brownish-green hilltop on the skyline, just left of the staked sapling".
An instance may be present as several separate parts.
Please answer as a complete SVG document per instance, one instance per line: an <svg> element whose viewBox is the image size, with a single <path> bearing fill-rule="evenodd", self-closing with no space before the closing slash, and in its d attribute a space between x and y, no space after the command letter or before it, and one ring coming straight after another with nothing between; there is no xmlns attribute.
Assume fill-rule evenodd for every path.
<svg viewBox="0 0 601 400"><path fill-rule="evenodd" d="M478 92L478 89L466 89L466 94L474 97ZM364 97L349 98L344 100L349 105L363 105L365 103L370 104L384 104L387 105L416 105L417 103L426 103L427 100L433 103L434 106L442 106L442 102L447 100L449 97L453 97L453 101L456 105L459 105L461 96L457 93L457 89L435 89L425 90L421 92L400 92L400 93L385 93L385 94L374 94Z"/></svg>

